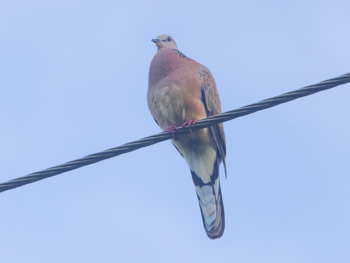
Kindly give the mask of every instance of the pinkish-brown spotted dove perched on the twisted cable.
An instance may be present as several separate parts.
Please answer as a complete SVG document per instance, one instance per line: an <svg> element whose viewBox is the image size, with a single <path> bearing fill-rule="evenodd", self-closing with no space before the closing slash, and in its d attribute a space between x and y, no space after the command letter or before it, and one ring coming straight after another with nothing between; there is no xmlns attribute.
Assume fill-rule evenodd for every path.
<svg viewBox="0 0 350 263"><path fill-rule="evenodd" d="M197 120L221 113L216 83L209 69L181 53L171 36L160 35L152 42L158 50L149 67L148 108L189 165L205 232L216 239L225 229L219 181L221 161L226 174L224 128L219 123L196 132L191 129ZM191 134L175 137L180 126Z"/></svg>

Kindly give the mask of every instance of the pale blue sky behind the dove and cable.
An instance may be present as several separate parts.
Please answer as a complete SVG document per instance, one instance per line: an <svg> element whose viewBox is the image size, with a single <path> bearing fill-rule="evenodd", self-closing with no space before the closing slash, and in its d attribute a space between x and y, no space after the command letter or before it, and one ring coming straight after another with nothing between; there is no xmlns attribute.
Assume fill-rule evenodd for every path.
<svg viewBox="0 0 350 263"><path fill-rule="evenodd" d="M349 8L2 1L0 181L158 133L160 34L211 70L227 111L350 72ZM1 262L349 262L349 97L342 85L224 124L219 240L167 141L1 193Z"/></svg>

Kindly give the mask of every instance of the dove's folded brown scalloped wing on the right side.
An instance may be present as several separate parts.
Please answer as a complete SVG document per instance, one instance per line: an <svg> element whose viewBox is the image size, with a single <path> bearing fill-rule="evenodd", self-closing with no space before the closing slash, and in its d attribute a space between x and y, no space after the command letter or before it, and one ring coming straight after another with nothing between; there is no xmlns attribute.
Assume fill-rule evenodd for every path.
<svg viewBox="0 0 350 263"><path fill-rule="evenodd" d="M211 75L210 70L203 65L200 67L199 75L202 78L202 100L205 106L205 110L207 111L207 117L220 114L221 103L213 75ZM211 126L210 128L218 146L221 160L224 163L226 175L226 141L224 126L222 123L219 123Z"/></svg>

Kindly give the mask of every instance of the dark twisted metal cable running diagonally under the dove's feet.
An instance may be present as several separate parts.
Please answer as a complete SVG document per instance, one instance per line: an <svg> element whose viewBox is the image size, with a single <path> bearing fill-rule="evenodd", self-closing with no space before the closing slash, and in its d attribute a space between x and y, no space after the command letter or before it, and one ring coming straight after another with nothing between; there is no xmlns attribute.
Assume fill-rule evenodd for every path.
<svg viewBox="0 0 350 263"><path fill-rule="evenodd" d="M339 86L348 82L350 82L350 73L347 73L338 77L334 77L332 79L325 80L325 81L316 83L314 85L306 86L301 89L293 90L291 92L287 92L279 96L275 96L253 104L249 104L247 106L244 106L238 109L230 110L228 112L225 112L219 115L202 119L196 122L195 127L193 128L191 127L191 128L192 130L207 128L220 122L233 120L244 115L258 112L259 110L271 108L278 104L295 100L304 96L308 96L316 92L320 92L322 90L334 88L336 86ZM189 133L189 129L187 128L178 127L177 129L178 130L176 131L176 136ZM24 186L25 184L40 181L42 179L45 179L51 176L62 174L67 171L71 171L92 163L106 160L106 159L118 156L120 154L128 153L130 151L134 151L158 142L169 140L169 139L171 139L171 136L167 132L162 132L159 134L145 137L141 140L126 143L121 146L114 147L105 151L100 151L99 153L90 154L80 159L76 159L58 166L54 166L54 167L51 167L42 171L38 171L32 174L28 174L26 176L22 176L4 183L0 183L0 193L9 189Z"/></svg>

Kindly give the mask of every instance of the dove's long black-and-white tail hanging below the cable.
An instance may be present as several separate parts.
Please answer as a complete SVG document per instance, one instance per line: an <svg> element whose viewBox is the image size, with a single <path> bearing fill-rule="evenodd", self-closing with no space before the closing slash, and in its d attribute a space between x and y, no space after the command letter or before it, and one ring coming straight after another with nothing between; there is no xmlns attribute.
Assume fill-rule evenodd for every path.
<svg viewBox="0 0 350 263"><path fill-rule="evenodd" d="M225 214L219 180L219 164L220 160L216 157L213 174L210 176L211 180L208 183L203 183L201 178L197 176L194 171L191 171L201 208L204 229L210 239L221 237L225 230Z"/></svg>

